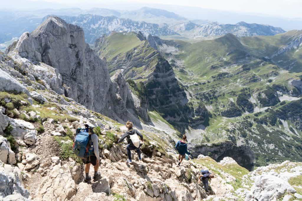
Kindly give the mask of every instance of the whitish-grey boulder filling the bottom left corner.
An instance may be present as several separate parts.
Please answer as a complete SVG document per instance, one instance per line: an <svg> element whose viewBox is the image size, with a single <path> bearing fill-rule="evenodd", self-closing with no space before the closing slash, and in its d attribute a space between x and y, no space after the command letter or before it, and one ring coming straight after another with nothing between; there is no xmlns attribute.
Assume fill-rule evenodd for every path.
<svg viewBox="0 0 302 201"><path fill-rule="evenodd" d="M27 200L29 192L22 186L18 167L0 162L0 200Z"/></svg>

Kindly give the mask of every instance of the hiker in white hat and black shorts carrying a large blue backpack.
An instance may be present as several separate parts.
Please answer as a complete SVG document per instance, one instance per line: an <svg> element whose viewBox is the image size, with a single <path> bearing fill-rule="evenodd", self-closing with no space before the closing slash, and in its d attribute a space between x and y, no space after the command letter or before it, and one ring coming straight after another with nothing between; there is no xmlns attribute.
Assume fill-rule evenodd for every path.
<svg viewBox="0 0 302 201"><path fill-rule="evenodd" d="M85 164L85 179L84 182L89 182L90 164L94 166L94 177L96 181L101 177L98 171L100 164L100 152L98 149L98 136L93 132L95 127L91 122L87 121L85 129L78 128L76 131L75 142L73 144L73 152L82 159Z"/></svg>

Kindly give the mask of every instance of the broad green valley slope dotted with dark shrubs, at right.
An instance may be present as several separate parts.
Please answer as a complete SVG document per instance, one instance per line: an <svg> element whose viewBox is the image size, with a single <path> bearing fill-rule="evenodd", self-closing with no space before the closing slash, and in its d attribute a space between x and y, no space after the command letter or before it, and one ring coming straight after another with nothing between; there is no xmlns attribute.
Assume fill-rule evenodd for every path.
<svg viewBox="0 0 302 201"><path fill-rule="evenodd" d="M299 34L293 31L241 39L228 34L195 43L162 41L178 49L172 53L162 49L162 53L185 89L194 94L191 101L202 102L212 114L209 126L195 143L231 140L247 144L255 152L256 166L286 159L302 161L302 127L298 122L302 115L297 109L302 107L297 100L302 92L290 84L302 73L286 71L275 58L265 58ZM278 96L282 95L295 97L281 102Z"/></svg>

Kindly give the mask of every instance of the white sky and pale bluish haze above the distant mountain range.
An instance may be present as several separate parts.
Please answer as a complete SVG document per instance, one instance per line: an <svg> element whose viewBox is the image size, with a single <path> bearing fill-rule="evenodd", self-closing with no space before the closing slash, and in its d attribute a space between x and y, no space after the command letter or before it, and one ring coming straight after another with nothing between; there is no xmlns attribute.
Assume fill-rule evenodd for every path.
<svg viewBox="0 0 302 201"><path fill-rule="evenodd" d="M302 29L301 0L160 0L104 1L89 0L11 0L1 3L2 8L35 10L42 8L90 9L93 7L114 10L136 10L143 6L161 8L189 19L217 21L223 24L247 23L269 24L284 30Z"/></svg>

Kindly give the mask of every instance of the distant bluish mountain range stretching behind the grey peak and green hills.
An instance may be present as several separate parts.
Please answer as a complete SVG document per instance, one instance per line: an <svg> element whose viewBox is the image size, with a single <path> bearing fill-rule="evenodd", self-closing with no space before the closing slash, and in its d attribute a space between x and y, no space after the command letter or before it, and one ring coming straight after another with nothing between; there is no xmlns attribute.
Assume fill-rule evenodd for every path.
<svg viewBox="0 0 302 201"><path fill-rule="evenodd" d="M47 9L34 12L4 11L0 14L0 44L19 37L24 31L33 31L34 27L43 22L47 15L57 15L68 23L84 28L85 40L93 44L95 39L111 31L141 31L145 36L182 35L187 38L202 38L204 36L220 36L233 33L236 36L275 35L284 33L278 27L261 24L218 24L206 20L190 21L175 13L143 7L136 11L114 11L103 8L82 10ZM194 23L196 22L196 23ZM199 24L201 23L201 24ZM4 44L2 44L4 46Z"/></svg>

